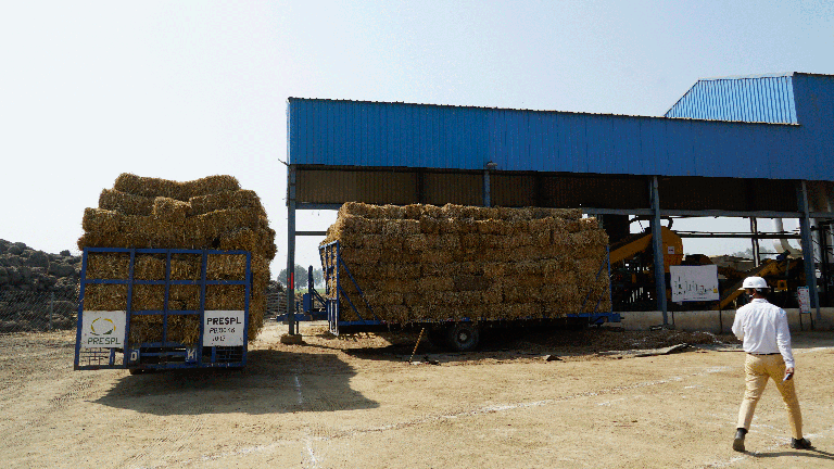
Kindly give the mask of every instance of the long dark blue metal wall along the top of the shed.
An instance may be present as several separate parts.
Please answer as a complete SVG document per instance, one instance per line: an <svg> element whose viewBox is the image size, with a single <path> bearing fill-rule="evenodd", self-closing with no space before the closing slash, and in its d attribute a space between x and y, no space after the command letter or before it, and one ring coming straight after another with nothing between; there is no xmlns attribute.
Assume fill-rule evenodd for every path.
<svg viewBox="0 0 834 469"><path fill-rule="evenodd" d="M834 180L834 77L789 78L793 111L761 115L799 125L290 98L289 162Z"/></svg>

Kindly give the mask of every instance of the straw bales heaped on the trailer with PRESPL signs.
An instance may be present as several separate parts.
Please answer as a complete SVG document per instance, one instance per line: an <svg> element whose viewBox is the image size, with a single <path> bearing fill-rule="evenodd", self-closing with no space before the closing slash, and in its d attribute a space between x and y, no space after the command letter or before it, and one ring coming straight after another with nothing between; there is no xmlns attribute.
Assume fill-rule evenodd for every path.
<svg viewBox="0 0 834 469"><path fill-rule="evenodd" d="M98 208L84 213L84 236L78 248L155 248L244 250L252 255L249 340L254 340L264 324L269 262L275 257L275 231L255 192L241 190L231 176L210 176L187 182L123 174L113 189L104 189ZM126 279L129 256L94 253L87 264L88 279ZM244 255L210 255L208 280L242 280ZM201 256L172 256L172 280L199 280ZM165 256L137 255L134 278L164 280ZM164 308L164 286L134 286L131 310ZM206 287L205 309L243 309L243 286ZM85 309L119 310L127 307L127 286L89 283ZM168 310L199 310L198 286L172 286ZM168 340L193 345L199 340L198 315L168 317ZM162 340L162 317L135 315L130 321L131 342Z"/></svg>

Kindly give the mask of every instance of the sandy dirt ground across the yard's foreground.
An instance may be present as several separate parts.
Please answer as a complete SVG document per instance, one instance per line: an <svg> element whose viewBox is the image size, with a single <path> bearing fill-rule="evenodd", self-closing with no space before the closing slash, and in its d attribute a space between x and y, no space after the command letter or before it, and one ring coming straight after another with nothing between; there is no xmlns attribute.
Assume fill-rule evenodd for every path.
<svg viewBox="0 0 834 469"><path fill-rule="evenodd" d="M73 333L0 335L0 466L834 467L831 332L794 335L817 449L791 449L771 383L741 454L744 354L730 338L514 333L473 353L421 342L410 364L416 334L304 324L306 345L281 345L286 330L267 326L241 371L140 376L73 371ZM681 343L695 345L656 350Z"/></svg>

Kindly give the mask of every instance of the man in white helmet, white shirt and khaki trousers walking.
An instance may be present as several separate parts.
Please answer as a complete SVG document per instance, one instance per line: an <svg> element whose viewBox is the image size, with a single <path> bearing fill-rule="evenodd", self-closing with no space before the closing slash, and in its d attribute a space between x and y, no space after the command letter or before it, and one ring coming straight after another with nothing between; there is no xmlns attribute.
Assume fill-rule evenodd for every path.
<svg viewBox="0 0 834 469"><path fill-rule="evenodd" d="M773 378L776 389L782 394L791 424L791 447L811 448L811 442L803 438L803 415L794 389L794 354L791 350L791 331L787 329L787 315L784 309L766 300L768 282L761 277L747 277L742 289L750 296L750 303L735 312L733 333L744 341L747 353L744 363L747 391L744 393L742 408L738 409L733 449L744 451L744 436L750 428L756 404Z"/></svg>

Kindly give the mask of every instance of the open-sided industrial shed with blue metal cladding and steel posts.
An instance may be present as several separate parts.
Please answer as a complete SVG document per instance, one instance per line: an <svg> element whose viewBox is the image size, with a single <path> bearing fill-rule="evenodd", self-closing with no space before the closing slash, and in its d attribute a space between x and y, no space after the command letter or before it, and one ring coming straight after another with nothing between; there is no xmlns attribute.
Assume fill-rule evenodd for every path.
<svg viewBox="0 0 834 469"><path fill-rule="evenodd" d="M830 262L812 226L834 219L831 75L700 79L661 117L290 98L287 118L288 271L295 237L323 234L296 230L295 211L349 201L581 207L612 241L640 216L655 252L662 217L750 218L754 243L776 237L757 218L798 218L803 251ZM819 318L814 263L805 277Z"/></svg>

